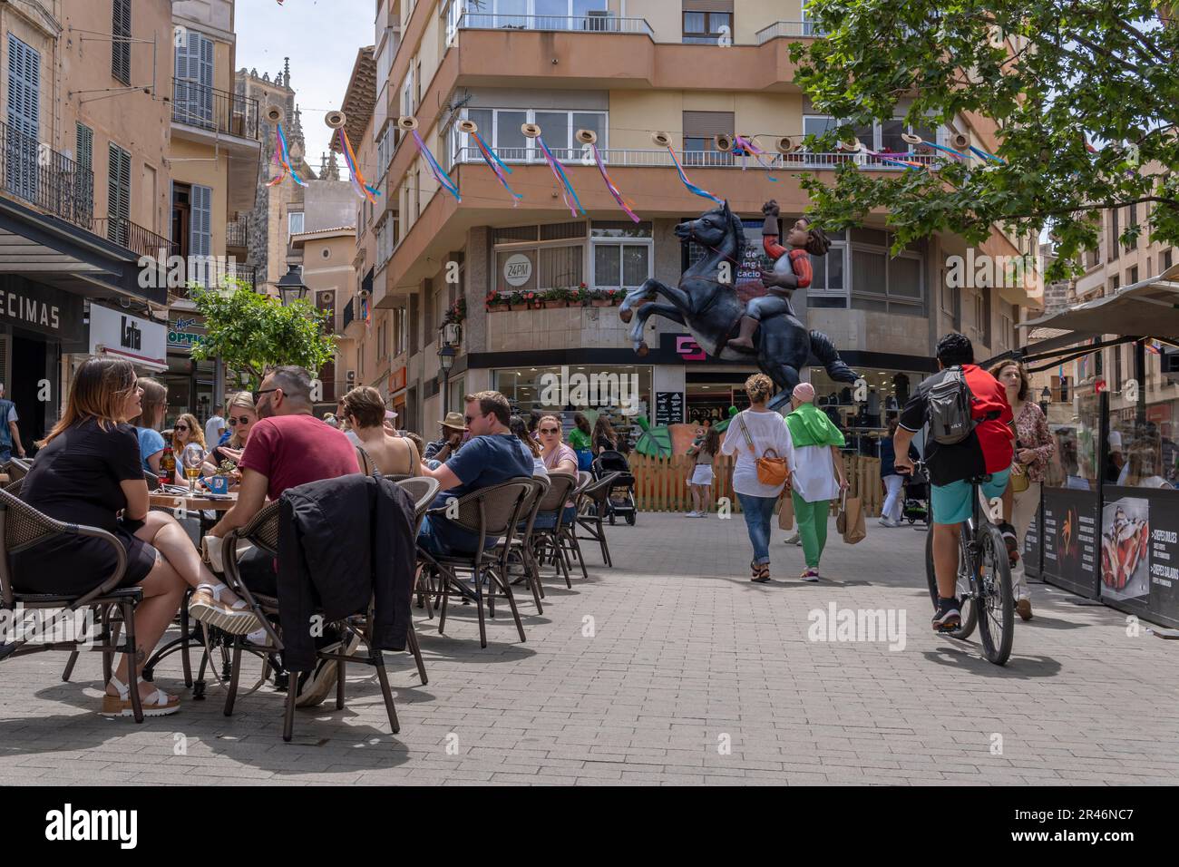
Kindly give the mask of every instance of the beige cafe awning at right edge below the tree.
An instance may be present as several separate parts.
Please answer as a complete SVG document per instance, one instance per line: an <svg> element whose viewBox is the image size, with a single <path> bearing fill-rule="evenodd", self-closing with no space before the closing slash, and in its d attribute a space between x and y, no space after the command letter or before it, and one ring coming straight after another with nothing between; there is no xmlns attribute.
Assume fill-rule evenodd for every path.
<svg viewBox="0 0 1179 867"><path fill-rule="evenodd" d="M1113 295L1021 322L1020 328L1053 328L1071 333L1050 337L1056 346L1101 334L1179 341L1179 264ZM1046 343L1039 342L1034 348L1046 349Z"/></svg>

